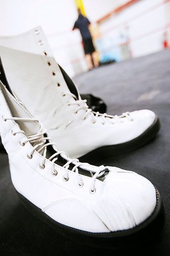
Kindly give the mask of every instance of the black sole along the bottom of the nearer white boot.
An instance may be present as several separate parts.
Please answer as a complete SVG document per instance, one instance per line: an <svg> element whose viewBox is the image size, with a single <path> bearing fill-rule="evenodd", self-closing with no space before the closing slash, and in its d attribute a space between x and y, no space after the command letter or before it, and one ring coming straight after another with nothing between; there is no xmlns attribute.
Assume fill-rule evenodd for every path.
<svg viewBox="0 0 170 256"><path fill-rule="evenodd" d="M130 246L134 245L134 243L143 244L145 242L148 242L148 239L151 242L151 239L154 239L155 236L160 233L160 230L164 223L164 208L157 189L157 204L152 215L147 220L129 230L115 231L110 233L86 232L58 223L57 221L54 221L51 217L46 215L40 208L36 207L34 204L28 201L21 194L19 194L18 192L17 194L23 205L25 205L26 208L31 211L33 215L38 217L46 224L50 225L58 233L62 234L66 238L74 240L75 242L87 244L94 247L97 246L101 248L115 248L116 246Z"/></svg>

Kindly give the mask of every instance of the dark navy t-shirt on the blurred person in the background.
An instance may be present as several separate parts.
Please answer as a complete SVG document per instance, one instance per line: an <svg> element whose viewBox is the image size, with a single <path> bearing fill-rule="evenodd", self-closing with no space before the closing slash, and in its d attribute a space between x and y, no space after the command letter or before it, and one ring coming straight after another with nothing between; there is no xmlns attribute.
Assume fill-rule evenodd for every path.
<svg viewBox="0 0 170 256"><path fill-rule="evenodd" d="M90 31L88 29L88 25L90 24L88 18L84 17L82 14L79 15L78 19L75 22L75 26L73 29L79 29L82 35L83 40L87 40L91 38Z"/></svg>

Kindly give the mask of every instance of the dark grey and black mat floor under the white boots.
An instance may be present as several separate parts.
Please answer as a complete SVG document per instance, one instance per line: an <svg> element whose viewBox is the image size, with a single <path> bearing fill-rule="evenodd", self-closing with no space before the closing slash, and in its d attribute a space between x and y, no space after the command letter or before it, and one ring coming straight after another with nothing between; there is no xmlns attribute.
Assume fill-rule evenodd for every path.
<svg viewBox="0 0 170 256"><path fill-rule="evenodd" d="M161 120L157 138L135 152L99 163L135 170L159 189L166 220L149 244L99 250L65 239L32 216L11 184L7 155L0 154L0 255L170 255L170 50L101 67L75 77L81 93L108 104L109 114L151 109ZM99 254L100 253L100 254Z"/></svg>

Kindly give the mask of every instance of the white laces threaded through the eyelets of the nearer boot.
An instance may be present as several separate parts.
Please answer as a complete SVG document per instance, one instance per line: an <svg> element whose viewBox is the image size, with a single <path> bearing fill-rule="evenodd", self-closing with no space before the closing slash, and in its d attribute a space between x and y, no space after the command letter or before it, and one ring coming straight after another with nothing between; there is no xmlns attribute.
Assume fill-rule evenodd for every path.
<svg viewBox="0 0 170 256"><path fill-rule="evenodd" d="M38 122L38 120L35 119L35 118L19 118L19 117L9 117L9 118L8 117L3 117L3 120L4 121L15 120L15 121L23 121L23 122L35 122L35 121ZM15 132L12 131L13 135L16 135L16 134L19 134L19 133L25 134L25 132L22 131L22 130L15 131ZM33 157L34 151L37 151L40 155L42 155L42 161L41 161L41 163L39 165L41 169L43 169L45 167L45 159L46 159L46 153L47 153L47 146L50 146L50 145L57 146L56 143L52 142L52 138L44 137L44 134L46 134L46 130L40 124L40 130L39 130L39 132L37 134L28 136L27 139L20 141L20 144L22 146L24 146L27 142L30 142L30 144L33 146L32 151L30 153L28 153L28 155L27 155L28 158L31 159ZM50 160L51 163L52 163L52 174L53 174L53 172L55 170L55 165L54 165L55 161L58 160L59 155L62 156L62 154L63 154L62 157L63 158L66 157L67 158L67 159L64 158L67 162L62 166L62 167L65 168L65 173L64 173L64 176L63 176L63 180L64 181L68 181L68 179L69 179L68 168L69 168L70 164L72 163L75 166L71 169L71 171L75 172L77 174L77 177L78 177L78 180L79 180L78 181L79 186L83 186L84 183L83 183L83 180L81 178L82 175L79 174L78 167L82 167L83 168L83 166L84 166L85 169L87 170L87 166L89 164L88 163L81 163L81 162L79 162L78 159L70 159L68 157L68 155L65 152L63 152L63 151L58 151L56 149L55 149L55 151L56 151L56 153L53 154L50 158L48 158L48 160ZM95 186L94 186L95 179L101 177L105 173L105 170L106 170L105 166L99 166L98 170L96 170L96 172L95 172L95 170L92 171L95 174L92 175L92 177L91 177L91 186L90 186L91 193L95 193ZM90 170L88 172L91 173Z"/></svg>

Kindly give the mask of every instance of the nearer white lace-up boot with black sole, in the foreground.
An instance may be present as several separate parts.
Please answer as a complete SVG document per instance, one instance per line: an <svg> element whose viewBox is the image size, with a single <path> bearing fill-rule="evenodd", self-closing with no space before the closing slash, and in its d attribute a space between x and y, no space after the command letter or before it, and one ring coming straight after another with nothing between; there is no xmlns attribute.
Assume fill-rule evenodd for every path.
<svg viewBox="0 0 170 256"><path fill-rule="evenodd" d="M160 214L152 183L128 170L70 159L8 90L0 82L0 132L22 201L68 236L101 243L131 237L134 243Z"/></svg>

